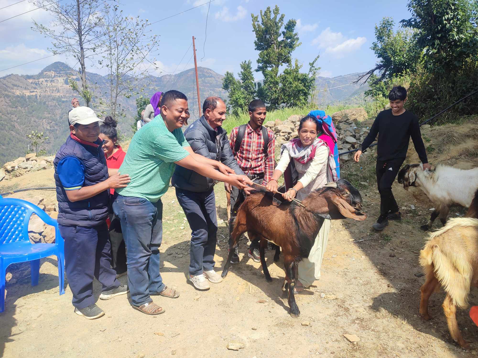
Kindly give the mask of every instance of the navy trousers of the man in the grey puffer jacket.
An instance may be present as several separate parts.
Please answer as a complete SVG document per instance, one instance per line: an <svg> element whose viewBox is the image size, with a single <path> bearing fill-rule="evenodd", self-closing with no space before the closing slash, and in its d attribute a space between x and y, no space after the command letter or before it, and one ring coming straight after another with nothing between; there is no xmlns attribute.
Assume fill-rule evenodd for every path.
<svg viewBox="0 0 478 358"><path fill-rule="evenodd" d="M214 268L217 243L216 197L214 190L202 193L176 188L191 233L189 274L195 276Z"/></svg>

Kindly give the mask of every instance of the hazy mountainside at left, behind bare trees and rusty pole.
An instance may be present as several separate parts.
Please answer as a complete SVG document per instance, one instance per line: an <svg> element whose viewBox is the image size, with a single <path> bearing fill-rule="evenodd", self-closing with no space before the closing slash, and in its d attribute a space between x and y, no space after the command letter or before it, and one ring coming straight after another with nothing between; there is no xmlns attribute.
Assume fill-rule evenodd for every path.
<svg viewBox="0 0 478 358"><path fill-rule="evenodd" d="M39 74L11 74L0 78L0 165L25 154L28 148L26 135L32 130L42 130L49 139L45 142L48 153L54 153L68 134L67 112L71 99L78 97L68 86L68 76L73 70L62 62L45 67ZM225 96L221 74L211 69L198 67L201 98L207 95ZM197 118L197 95L194 69L179 74L151 76L144 96L151 97L157 90L177 89L188 97L191 117ZM98 95L107 91L104 76L88 73L87 79ZM79 78L76 78L79 84ZM193 92L194 91L194 92ZM94 100L93 108L98 101ZM80 104L83 101L80 99ZM120 121L120 133L131 135L131 117L136 115L135 97L121 98L122 108L127 109L126 117Z"/></svg>

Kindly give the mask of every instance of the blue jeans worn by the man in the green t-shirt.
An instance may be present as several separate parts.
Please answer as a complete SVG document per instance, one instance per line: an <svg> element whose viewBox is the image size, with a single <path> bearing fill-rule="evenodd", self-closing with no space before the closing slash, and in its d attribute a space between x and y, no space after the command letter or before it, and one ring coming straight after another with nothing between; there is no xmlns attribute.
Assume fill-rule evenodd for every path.
<svg viewBox="0 0 478 358"><path fill-rule="evenodd" d="M118 195L113 211L121 221L126 242L131 302L141 306L152 302L150 294L157 295L165 287L159 273L163 203Z"/></svg>

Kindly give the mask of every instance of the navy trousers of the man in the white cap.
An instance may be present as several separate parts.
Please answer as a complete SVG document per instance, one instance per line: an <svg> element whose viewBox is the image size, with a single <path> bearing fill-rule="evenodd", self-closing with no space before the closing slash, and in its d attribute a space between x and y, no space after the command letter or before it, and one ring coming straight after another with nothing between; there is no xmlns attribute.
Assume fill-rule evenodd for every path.
<svg viewBox="0 0 478 358"><path fill-rule="evenodd" d="M77 309L95 303L93 277L103 285L102 291L120 286L111 268L109 234L106 221L97 226L58 225L65 239L65 270Z"/></svg>

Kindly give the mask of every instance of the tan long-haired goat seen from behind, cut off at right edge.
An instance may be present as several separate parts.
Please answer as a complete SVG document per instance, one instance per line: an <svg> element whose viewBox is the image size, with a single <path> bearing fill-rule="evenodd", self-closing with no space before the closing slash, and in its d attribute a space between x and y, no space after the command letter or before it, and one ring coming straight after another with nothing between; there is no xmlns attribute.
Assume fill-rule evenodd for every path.
<svg viewBox="0 0 478 358"><path fill-rule="evenodd" d="M430 235L420 252L420 264L426 280L420 288L420 315L429 320L428 300L439 284L446 292L443 310L451 337L463 348L469 348L456 322L456 306L466 308L471 286L478 287L478 190L467 212L467 218L450 219Z"/></svg>

